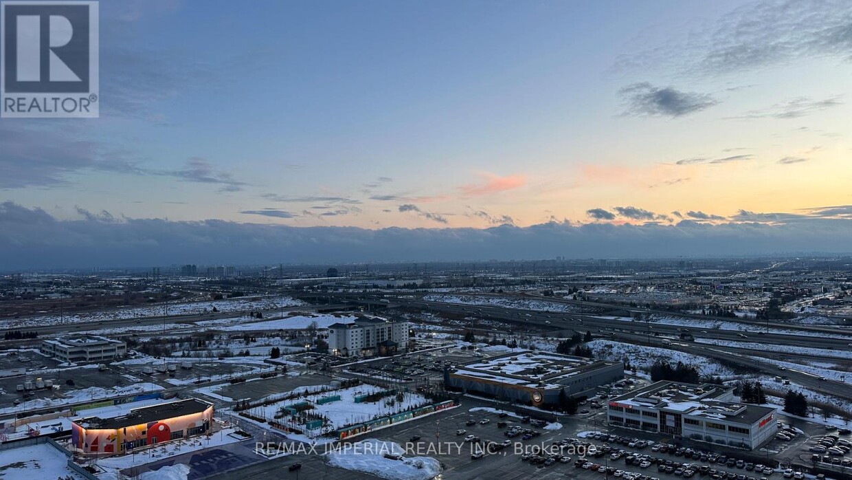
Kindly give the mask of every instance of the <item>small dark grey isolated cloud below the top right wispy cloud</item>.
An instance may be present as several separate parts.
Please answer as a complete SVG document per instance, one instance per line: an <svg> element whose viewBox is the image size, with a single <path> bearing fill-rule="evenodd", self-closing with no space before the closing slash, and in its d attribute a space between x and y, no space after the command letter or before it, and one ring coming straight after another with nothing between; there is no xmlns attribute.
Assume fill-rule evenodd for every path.
<svg viewBox="0 0 852 480"><path fill-rule="evenodd" d="M673 87L654 87L647 82L619 90L625 101L625 115L681 117L718 103L711 95L684 92Z"/></svg>

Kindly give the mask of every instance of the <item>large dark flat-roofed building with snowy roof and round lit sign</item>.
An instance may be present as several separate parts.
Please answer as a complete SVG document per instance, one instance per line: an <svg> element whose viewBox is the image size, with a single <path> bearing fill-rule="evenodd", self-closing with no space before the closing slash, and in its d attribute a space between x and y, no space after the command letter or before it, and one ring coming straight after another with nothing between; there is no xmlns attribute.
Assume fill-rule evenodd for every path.
<svg viewBox="0 0 852 480"><path fill-rule="evenodd" d="M597 387L622 379L620 361L521 351L475 360L447 369L447 388L535 406L560 402L560 396L589 396Z"/></svg>

